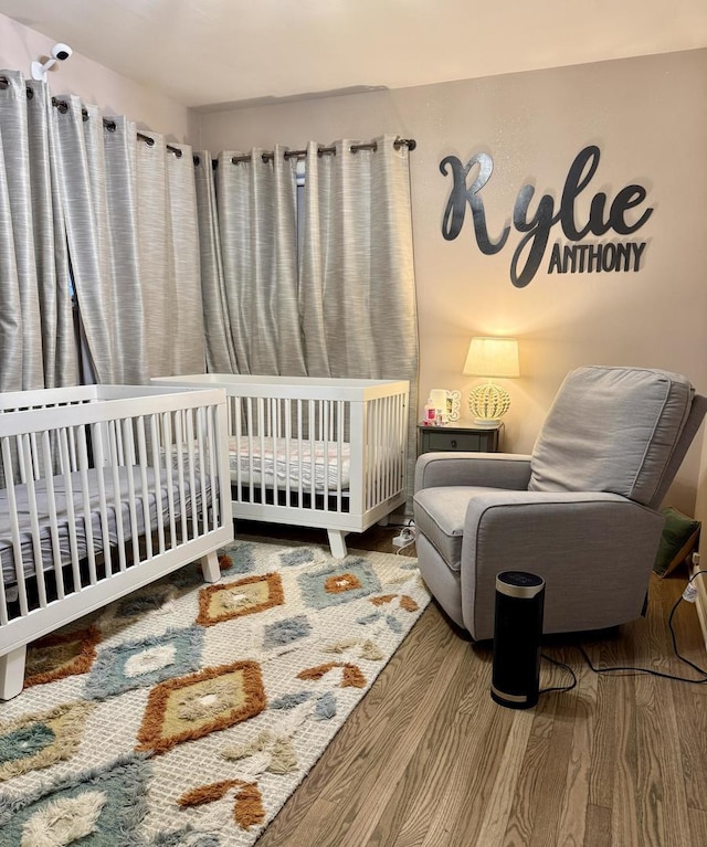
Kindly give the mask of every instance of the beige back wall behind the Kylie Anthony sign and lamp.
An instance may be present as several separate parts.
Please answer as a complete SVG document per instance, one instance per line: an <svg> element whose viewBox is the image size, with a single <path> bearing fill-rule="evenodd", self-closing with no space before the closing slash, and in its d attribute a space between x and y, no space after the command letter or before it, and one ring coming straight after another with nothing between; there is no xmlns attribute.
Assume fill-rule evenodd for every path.
<svg viewBox="0 0 707 847"><path fill-rule="evenodd" d="M658 367L707 391L706 102L707 50L696 50L202 114L199 146L215 153L383 131L415 138L421 403L431 388L465 394L476 384L461 372L473 335L517 336L523 375L507 383L506 446L529 452L560 381L577 366ZM515 288L515 230L495 256L478 250L468 213L456 240L442 237L451 188L440 172L445 156L466 162L477 151L492 155L495 170L482 197L497 235L524 183L537 190L531 213L542 193L559 203L572 160L590 144L599 146L601 160L578 201L578 221L587 219L594 193L606 192L611 202L629 183L645 187L646 202L636 212L648 205L654 212L641 230L591 237L647 242L640 272L548 274L548 250L530 284ZM635 220L632 214L626 219ZM566 243L559 225L550 244L556 240ZM669 495L688 511L701 435L698 442Z"/></svg>

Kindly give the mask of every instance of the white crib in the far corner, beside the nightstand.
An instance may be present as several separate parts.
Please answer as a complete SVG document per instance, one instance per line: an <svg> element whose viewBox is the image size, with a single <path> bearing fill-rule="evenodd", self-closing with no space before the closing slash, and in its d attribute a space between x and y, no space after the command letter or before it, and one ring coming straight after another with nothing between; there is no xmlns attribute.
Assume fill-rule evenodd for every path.
<svg viewBox="0 0 707 847"><path fill-rule="evenodd" d="M405 502L407 381L203 373L229 406L233 517L327 530L331 553Z"/></svg>

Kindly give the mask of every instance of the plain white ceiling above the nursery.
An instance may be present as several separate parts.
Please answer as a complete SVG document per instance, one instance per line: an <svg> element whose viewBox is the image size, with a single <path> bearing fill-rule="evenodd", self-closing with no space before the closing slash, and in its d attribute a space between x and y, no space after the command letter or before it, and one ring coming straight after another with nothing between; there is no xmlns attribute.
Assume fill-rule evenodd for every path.
<svg viewBox="0 0 707 847"><path fill-rule="evenodd" d="M707 46L707 0L0 0L0 13L191 107Z"/></svg>

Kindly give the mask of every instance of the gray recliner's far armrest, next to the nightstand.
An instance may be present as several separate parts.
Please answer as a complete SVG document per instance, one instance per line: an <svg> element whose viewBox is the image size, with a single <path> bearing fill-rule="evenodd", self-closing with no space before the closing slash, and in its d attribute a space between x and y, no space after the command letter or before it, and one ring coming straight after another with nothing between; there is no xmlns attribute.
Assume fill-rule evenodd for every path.
<svg viewBox="0 0 707 847"><path fill-rule="evenodd" d="M423 453L415 464L415 491L447 485L525 490L530 456L520 453Z"/></svg>

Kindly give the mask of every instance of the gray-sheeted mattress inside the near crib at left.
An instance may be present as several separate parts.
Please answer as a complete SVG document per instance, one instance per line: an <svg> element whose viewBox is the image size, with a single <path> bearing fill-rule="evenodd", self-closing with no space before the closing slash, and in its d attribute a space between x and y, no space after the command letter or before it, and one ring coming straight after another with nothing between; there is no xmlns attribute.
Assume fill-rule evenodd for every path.
<svg viewBox="0 0 707 847"><path fill-rule="evenodd" d="M106 468L103 470L91 469L87 472L88 490L88 512L91 514L91 527L86 526L83 515L86 514L84 509L84 489L82 484L81 473L70 474L70 486L66 485L66 477L55 476L52 478L53 484L53 504L56 515L57 525L57 547L61 564L68 564L72 561L72 543L75 548L75 553L78 559L86 557L89 547L89 534L93 539L93 548L95 551L101 551L104 548L103 525L99 512L99 480L98 475L103 474L105 498L107 501L106 518L105 521L107 528L107 534L110 547L118 543L118 530L122 528L123 541L128 541L131 537L130 532L130 486L135 491L135 523L137 533L143 534L145 532L145 508L143 506L143 496L145 489L143 488L143 473L145 473L147 479L147 500L149 504L149 525L150 530L154 530L158 526L157 520L157 485L155 479L155 472L152 468L140 468L139 466L119 467L117 469L118 485L117 496L114 486L113 469ZM175 481L176 476L172 478ZM191 516L192 506L199 507L201 502L200 481L196 483L196 496L188 497L186 504L186 514ZM207 480L207 496L209 495L210 485ZM35 572L35 554L34 544L32 541L32 511L30 509L30 498L28 494L27 485L14 486L14 496L17 502L17 515L19 523L19 540L22 551L23 571L25 576L30 576ZM186 486L188 490L188 486ZM70 497L73 504L74 510L74 533L70 532ZM42 568L48 570L53 568L56 562L55 547L52 542L51 523L49 519L50 497L51 491L48 489L48 480L40 479L34 483L34 498L35 504L35 520L39 525L39 540L40 540L40 554L42 559ZM166 473L162 472L160 479L160 522L166 523L169 520L170 514L170 499L167 487ZM176 518L179 519L181 510L181 498L179 487L172 485L172 508L175 510ZM119 502L120 523L116 521L116 508L115 504ZM10 528L9 517L9 499L7 489L0 490L0 562L2 563L2 579L6 586L10 586L17 583L17 575L14 571L14 552L13 541ZM72 542L72 534L74 542Z"/></svg>

